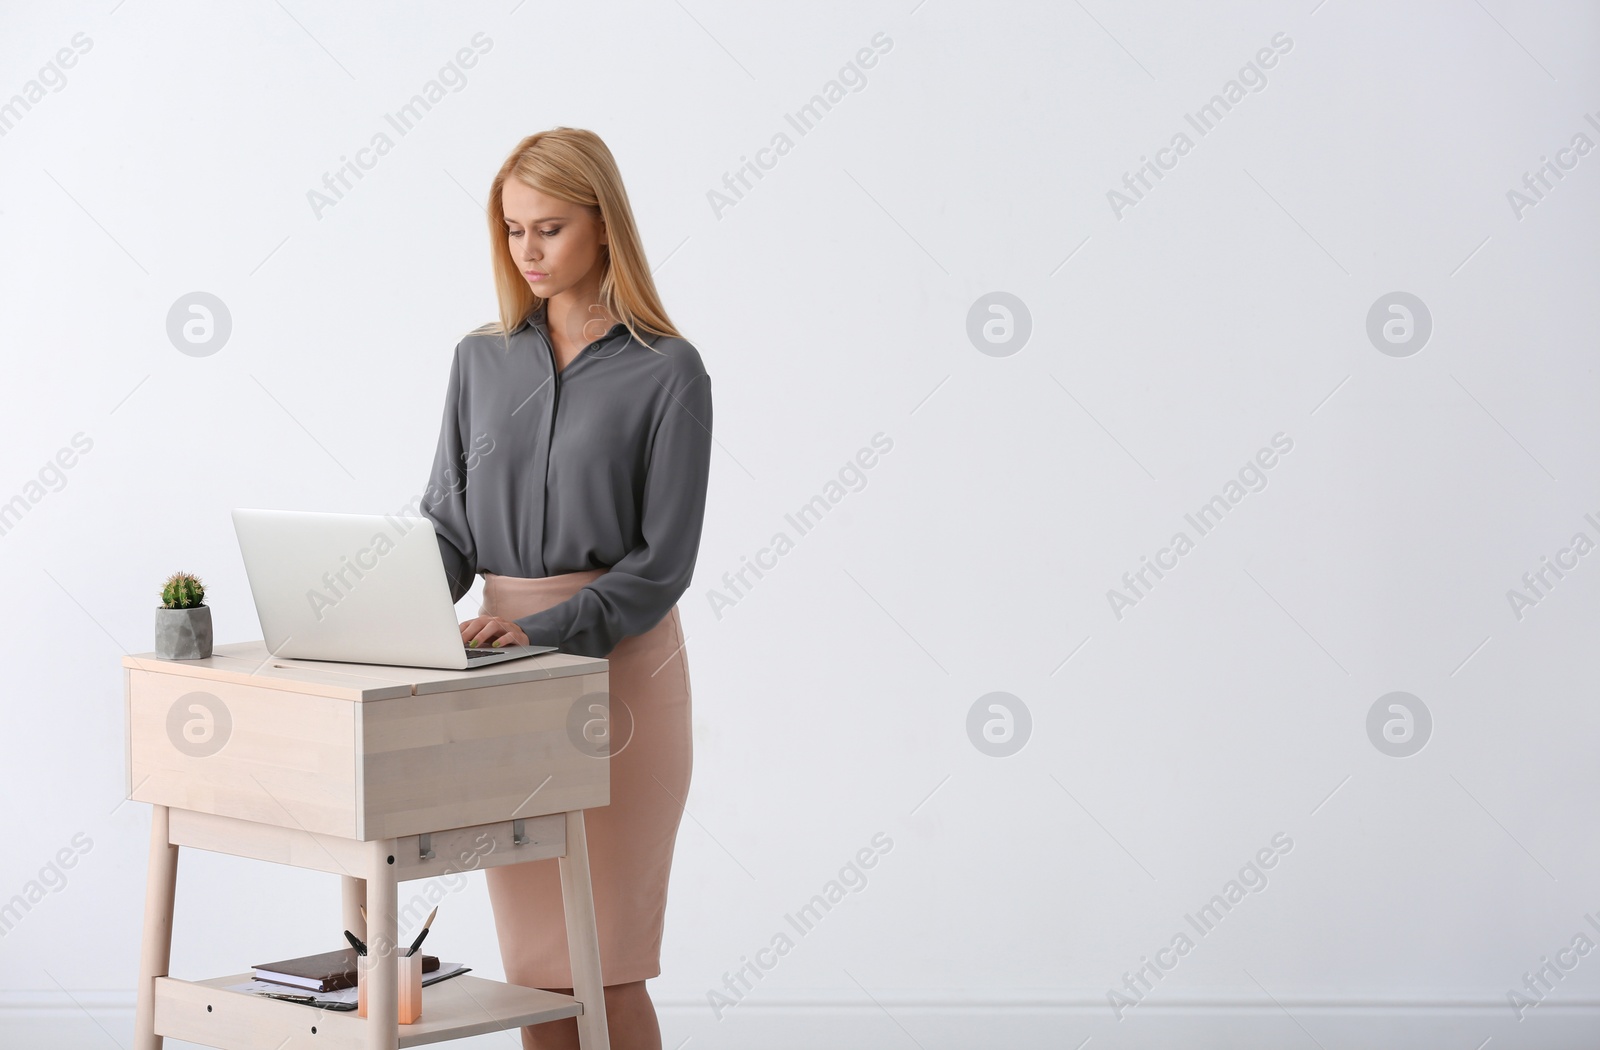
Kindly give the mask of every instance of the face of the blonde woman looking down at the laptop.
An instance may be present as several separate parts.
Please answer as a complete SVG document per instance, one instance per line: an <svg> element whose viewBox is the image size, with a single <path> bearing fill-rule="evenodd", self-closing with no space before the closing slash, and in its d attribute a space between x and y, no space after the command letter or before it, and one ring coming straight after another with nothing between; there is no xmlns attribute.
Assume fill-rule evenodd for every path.
<svg viewBox="0 0 1600 1050"><path fill-rule="evenodd" d="M554 299L587 283L605 243L605 227L589 208L547 197L518 179L501 186L501 208L506 245L533 295ZM598 274L594 283L598 287Z"/></svg>

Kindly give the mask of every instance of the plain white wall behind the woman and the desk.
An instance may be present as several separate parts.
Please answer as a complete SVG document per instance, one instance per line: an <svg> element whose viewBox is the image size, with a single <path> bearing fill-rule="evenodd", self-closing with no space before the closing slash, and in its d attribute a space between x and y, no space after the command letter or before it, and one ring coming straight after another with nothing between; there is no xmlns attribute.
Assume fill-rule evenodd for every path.
<svg viewBox="0 0 1600 1050"><path fill-rule="evenodd" d="M450 352L493 309L488 181L573 125L618 155L715 391L666 1045L1592 1044L1600 957L1525 1020L1507 992L1600 943L1600 555L1522 616L1507 591L1600 541L1600 155L1507 194L1600 144L1594 5L0 18L0 98L90 43L0 138L0 501L27 504L0 535L0 898L88 844L0 938L0 1042L130 1040L149 807L123 802L118 661L150 650L158 581L198 571L219 642L259 637L230 507L421 490ZM318 213L307 190L475 34L464 86ZM1274 38L1264 86L1198 134L1186 114ZM798 134L786 115L874 40ZM1109 200L1181 131L1154 189ZM165 320L195 290L232 317L198 359ZM968 336L995 291L1030 323L1010 355ZM1430 315L1419 352L1368 336L1394 291ZM714 613L878 432L859 491ZM1278 434L1198 535L1184 515ZM1192 551L1118 618L1107 592L1176 531ZM1008 757L968 728L995 691L1027 712ZM1368 733L1392 691L1432 720L1410 757ZM707 992L877 832L866 885L718 1020ZM1280 832L1266 887L1194 933ZM498 976L482 877L438 892L437 949ZM187 855L173 972L336 924L331 877ZM1118 1020L1109 989L1182 930Z"/></svg>

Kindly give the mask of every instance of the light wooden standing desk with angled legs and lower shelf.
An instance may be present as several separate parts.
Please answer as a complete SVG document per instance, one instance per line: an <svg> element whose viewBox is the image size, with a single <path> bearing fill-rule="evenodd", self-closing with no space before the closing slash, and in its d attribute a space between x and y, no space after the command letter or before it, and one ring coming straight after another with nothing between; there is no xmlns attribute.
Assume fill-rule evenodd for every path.
<svg viewBox="0 0 1600 1050"><path fill-rule="evenodd" d="M432 671L282 659L238 642L206 659L122 664L128 797L154 807L136 1050L165 1036L394 1050L568 1016L584 1050L610 1050L582 813L611 800L608 755L592 743L610 712L608 661L546 653ZM368 944L368 1016L224 991L250 973L170 976L179 847L338 874L344 925ZM424 988L421 1020L400 1024L398 884L552 856L573 994L462 975ZM338 948L328 933L307 954Z"/></svg>

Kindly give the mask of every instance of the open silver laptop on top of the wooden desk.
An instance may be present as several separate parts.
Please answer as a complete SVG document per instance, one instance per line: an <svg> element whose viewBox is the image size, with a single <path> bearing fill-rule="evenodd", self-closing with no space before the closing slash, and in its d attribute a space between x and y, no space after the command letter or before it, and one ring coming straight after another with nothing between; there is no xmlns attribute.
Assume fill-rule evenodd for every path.
<svg viewBox="0 0 1600 1050"><path fill-rule="evenodd" d="M464 671L555 651L461 640L426 517L237 509L234 531L275 656Z"/></svg>

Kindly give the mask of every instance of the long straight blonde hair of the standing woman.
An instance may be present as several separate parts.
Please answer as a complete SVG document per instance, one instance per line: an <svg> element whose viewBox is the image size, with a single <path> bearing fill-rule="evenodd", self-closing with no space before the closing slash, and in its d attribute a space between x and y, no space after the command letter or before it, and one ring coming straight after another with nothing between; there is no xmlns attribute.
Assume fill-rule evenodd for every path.
<svg viewBox="0 0 1600 1050"><path fill-rule="evenodd" d="M494 272L494 298L499 320L475 328L470 335L499 335L510 347L510 333L528 314L544 306L544 296L533 293L517 261L506 245L506 208L501 187L515 178L541 194L582 205L605 222L606 243L600 245L600 303L606 312L627 325L640 344L656 347L640 338L640 331L683 338L667 317L650 275L645 250L638 243L634 210L622 189L616 158L594 131L584 128L550 128L517 142L490 184L490 267ZM659 351L656 351L659 352Z"/></svg>

